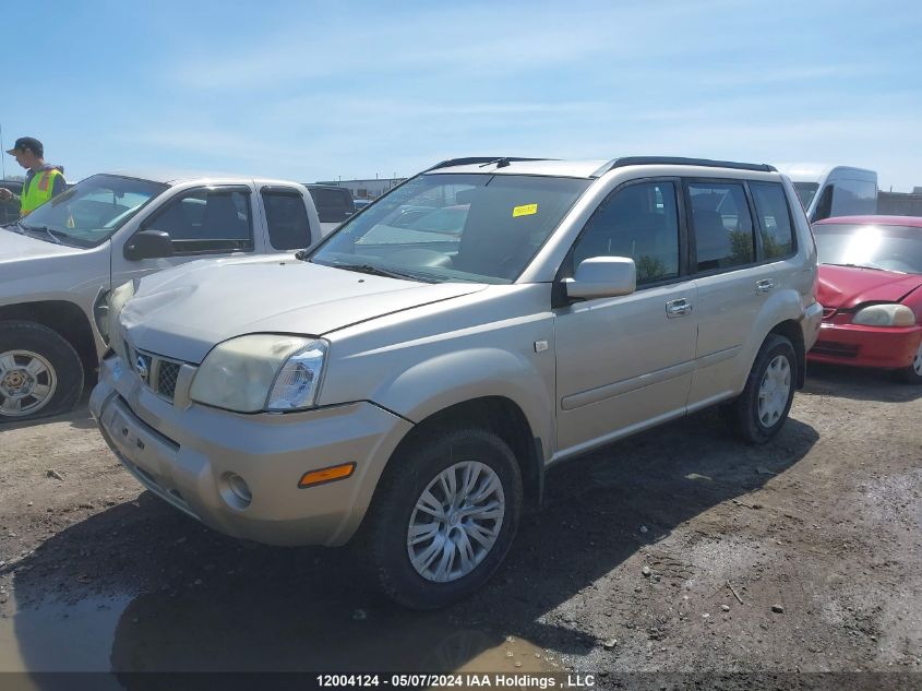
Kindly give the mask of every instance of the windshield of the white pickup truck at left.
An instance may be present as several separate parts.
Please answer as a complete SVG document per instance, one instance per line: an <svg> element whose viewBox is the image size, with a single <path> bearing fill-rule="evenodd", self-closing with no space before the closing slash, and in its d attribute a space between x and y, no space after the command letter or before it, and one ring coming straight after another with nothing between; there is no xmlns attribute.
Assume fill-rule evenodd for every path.
<svg viewBox="0 0 922 691"><path fill-rule="evenodd" d="M148 180L94 175L33 211L20 226L40 237L94 247L166 189Z"/></svg>

